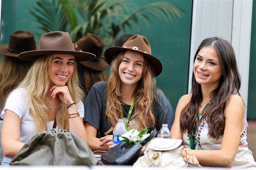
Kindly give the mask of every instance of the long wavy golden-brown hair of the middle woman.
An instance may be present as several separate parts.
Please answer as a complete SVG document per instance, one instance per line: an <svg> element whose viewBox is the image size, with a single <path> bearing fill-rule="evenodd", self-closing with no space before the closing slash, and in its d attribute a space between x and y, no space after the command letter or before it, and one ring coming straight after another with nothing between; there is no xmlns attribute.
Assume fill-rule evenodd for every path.
<svg viewBox="0 0 256 170"><path fill-rule="evenodd" d="M120 118L122 105L122 88L121 79L119 77L118 68L122 62L125 51L120 52L111 63L110 74L108 77L108 93L106 116L108 122L115 126ZM152 103L157 100L157 96L153 93L156 86L154 69L149 63L148 58L144 57L142 78L133 92L135 113L130 120L136 120L138 123L137 129L142 130L146 127L155 125L155 117L152 113Z"/></svg>

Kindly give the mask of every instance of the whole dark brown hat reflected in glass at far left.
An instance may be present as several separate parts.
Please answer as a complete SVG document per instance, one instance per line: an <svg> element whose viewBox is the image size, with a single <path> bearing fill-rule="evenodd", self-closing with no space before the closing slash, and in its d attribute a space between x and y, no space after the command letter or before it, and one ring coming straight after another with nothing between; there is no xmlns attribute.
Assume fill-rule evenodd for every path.
<svg viewBox="0 0 256 170"><path fill-rule="evenodd" d="M32 32L19 30L11 33L9 44L0 45L0 54L17 57L22 52L36 49L36 41Z"/></svg>

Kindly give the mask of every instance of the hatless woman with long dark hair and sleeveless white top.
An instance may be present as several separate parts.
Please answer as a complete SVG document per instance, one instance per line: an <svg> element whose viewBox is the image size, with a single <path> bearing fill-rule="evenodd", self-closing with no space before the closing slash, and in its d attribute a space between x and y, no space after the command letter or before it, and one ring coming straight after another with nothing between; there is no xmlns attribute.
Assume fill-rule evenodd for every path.
<svg viewBox="0 0 256 170"><path fill-rule="evenodd" d="M255 168L240 84L230 43L203 40L195 53L191 94L180 98L171 134L204 166Z"/></svg>

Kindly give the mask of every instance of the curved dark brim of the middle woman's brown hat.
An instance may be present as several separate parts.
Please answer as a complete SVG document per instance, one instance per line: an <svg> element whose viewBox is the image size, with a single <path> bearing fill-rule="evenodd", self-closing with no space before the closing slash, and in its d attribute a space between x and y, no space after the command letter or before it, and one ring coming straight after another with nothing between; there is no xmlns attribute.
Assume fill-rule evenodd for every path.
<svg viewBox="0 0 256 170"><path fill-rule="evenodd" d="M140 52L140 51L136 51L133 49L129 49L129 48L123 48L123 47L111 47L105 51L105 59L108 62L108 64L111 65L113 58L115 58L116 55L123 50L137 52L137 53L142 54L145 57L147 57L150 64L154 68L155 76L158 76L162 72L163 66L162 66L161 61L159 61L153 55L147 54L145 52Z"/></svg>

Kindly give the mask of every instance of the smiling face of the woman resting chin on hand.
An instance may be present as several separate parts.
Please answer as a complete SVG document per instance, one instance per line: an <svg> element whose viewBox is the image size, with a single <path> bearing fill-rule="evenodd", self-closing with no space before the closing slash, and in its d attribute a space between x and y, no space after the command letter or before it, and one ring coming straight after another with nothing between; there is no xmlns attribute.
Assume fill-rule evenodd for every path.
<svg viewBox="0 0 256 170"><path fill-rule="evenodd" d="M64 86L73 73L73 63L73 55L53 54L48 73L51 82L57 86Z"/></svg>

